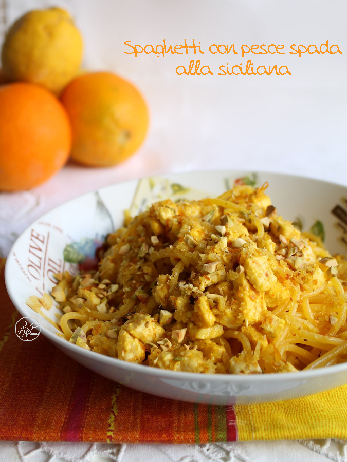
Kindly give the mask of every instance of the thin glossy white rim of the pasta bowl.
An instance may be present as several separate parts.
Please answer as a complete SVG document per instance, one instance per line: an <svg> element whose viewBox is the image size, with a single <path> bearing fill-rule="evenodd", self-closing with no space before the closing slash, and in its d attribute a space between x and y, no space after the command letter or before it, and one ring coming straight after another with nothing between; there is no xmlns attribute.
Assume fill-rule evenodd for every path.
<svg viewBox="0 0 347 462"><path fill-rule="evenodd" d="M194 170L194 171L182 171L182 172L164 172L161 174L155 174L155 177L179 177L179 176L189 176L189 175L199 175L199 174L206 174L207 172L211 172L212 174L220 174L222 176L226 175L244 175L244 174L250 174L252 173L251 170ZM347 193L347 186L341 183L336 183L332 181L327 181L327 180L322 180L319 178L314 178L314 177L308 177L308 176L303 176L303 175L296 175L296 174L288 174L288 173L282 173L282 172L276 172L276 171L268 171L268 170L259 170L257 169L257 173L261 175L271 175L271 176L279 176L279 177L286 177L291 180L301 180L301 181L313 181L315 183L324 183L327 186L338 186L338 187L343 187L346 189ZM33 220L18 236L11 246L10 252L8 254L8 257L6 259L5 263L5 285L6 289L8 292L8 295L12 301L12 303L15 306L15 309L22 314L23 316L26 316L27 313L25 313L24 309L22 309L22 301L19 300L16 296L16 293L11 290L10 287L10 263L12 261L13 257L13 252L15 252L15 248L20 242L20 240L23 238L23 236L28 232L28 229L31 228L36 222L38 221L44 221L45 217L47 215L50 215L54 211L58 210L61 207L64 207L67 204L70 204L74 201L78 202L81 200L83 197L86 197L90 194L94 194L96 191L100 190L106 190L107 188L112 188L114 186L121 186L125 184L130 184L130 183L136 183L139 180L143 178L148 178L149 176L144 176L140 178L135 178L132 180L126 180L122 182L117 182L113 184L109 184L106 186L103 186L101 188L93 189L88 192L84 192L81 195L78 195L74 198L71 198L67 201L64 201L63 203L49 209L46 211L43 215L39 216L35 220ZM335 364L335 365L330 365L327 367L323 368L317 368L317 369L312 369L312 370L302 370L302 371L296 371L296 372L290 372L289 375L284 374L284 373L262 373L262 374L212 374L212 373L197 373L197 372L184 372L184 371L173 371L173 370L168 370L168 369L160 369L160 368L155 368L155 367L150 367L148 365L143 365L143 364L136 364L132 362L127 362L127 361L122 361L118 358L113 358L111 356L103 355L101 353L97 353L94 351L88 351L83 348L78 347L77 345L68 342L66 339L62 338L61 336L57 334L53 334L50 332L48 329L45 328L45 326L41 326L41 333L44 335L44 337L48 338L53 344L60 345L64 350L67 349L76 356L82 356L86 359L93 359L92 355L98 355L96 357L97 362L104 363L105 365L108 366L114 366L119 369L127 370L129 372L136 372L140 374L145 374L145 375L151 375L151 376L157 376L162 379L171 379L171 380L180 380L180 381L196 381L198 380L199 382L205 382L205 381L212 381L212 382L254 382L254 381L260 381L260 383L263 382L278 382L278 381L283 381L283 380L290 380L290 381L304 381L304 380L309 380L313 378L318 378L318 377L323 377L325 375L330 375L330 374L335 374L335 373L343 373L347 372L347 362L345 363L340 363L340 364Z"/></svg>

